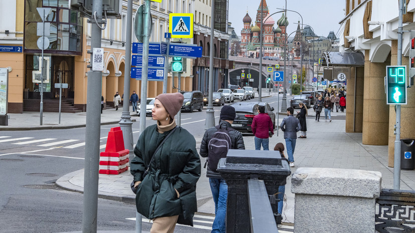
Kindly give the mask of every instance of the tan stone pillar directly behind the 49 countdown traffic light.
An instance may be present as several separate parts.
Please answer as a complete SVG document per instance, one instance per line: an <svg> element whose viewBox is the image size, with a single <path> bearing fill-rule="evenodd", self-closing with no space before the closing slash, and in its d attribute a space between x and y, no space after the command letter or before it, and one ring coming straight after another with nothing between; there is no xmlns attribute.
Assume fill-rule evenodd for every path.
<svg viewBox="0 0 415 233"><path fill-rule="evenodd" d="M392 43L393 46L393 43ZM392 47L393 51L393 47ZM408 57L402 57L402 65L406 65L409 69ZM391 65L396 65L396 58L392 59ZM400 110L400 138L415 138L415 124L413 119L415 116L415 87L407 89L407 104L401 105ZM386 102L385 102L386 103ZM395 105L389 105L389 143L388 143L388 166L393 167L393 153L395 149L395 134L393 134L394 125L396 123Z"/></svg>

